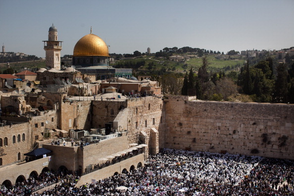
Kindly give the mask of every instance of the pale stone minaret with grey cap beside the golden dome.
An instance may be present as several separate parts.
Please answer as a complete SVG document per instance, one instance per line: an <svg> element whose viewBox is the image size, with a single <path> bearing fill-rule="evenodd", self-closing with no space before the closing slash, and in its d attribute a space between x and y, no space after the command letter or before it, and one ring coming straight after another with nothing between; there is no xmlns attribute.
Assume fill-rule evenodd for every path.
<svg viewBox="0 0 294 196"><path fill-rule="evenodd" d="M49 28L48 41L44 42L46 66L60 70L60 51L62 41L57 41L57 28L52 24Z"/></svg>

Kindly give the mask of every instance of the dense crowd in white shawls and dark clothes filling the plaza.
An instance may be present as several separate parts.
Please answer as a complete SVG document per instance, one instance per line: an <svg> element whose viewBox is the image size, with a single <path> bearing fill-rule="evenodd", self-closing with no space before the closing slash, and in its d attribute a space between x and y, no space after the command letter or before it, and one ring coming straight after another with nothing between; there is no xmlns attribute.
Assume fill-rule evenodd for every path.
<svg viewBox="0 0 294 196"><path fill-rule="evenodd" d="M32 195L293 196L294 161L162 149L149 156L145 167L79 188L74 185L62 181L53 189ZM21 188L14 185L13 189L6 189L6 194L15 195Z"/></svg>

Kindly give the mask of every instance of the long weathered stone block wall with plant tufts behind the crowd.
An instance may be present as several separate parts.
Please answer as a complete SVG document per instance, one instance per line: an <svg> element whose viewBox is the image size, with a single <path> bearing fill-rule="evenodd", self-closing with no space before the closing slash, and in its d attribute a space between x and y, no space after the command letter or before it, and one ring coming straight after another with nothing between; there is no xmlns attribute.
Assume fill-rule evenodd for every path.
<svg viewBox="0 0 294 196"><path fill-rule="evenodd" d="M169 97L165 109L164 147L294 159L293 104Z"/></svg>

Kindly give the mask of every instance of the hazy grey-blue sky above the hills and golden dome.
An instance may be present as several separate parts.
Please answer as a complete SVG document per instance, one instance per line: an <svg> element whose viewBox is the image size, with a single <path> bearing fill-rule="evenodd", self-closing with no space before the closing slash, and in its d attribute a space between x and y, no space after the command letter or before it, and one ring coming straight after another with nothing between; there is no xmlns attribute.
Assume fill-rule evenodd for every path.
<svg viewBox="0 0 294 196"><path fill-rule="evenodd" d="M45 57L52 23L61 56L91 26L110 53L294 47L294 0L0 0L5 51Z"/></svg>

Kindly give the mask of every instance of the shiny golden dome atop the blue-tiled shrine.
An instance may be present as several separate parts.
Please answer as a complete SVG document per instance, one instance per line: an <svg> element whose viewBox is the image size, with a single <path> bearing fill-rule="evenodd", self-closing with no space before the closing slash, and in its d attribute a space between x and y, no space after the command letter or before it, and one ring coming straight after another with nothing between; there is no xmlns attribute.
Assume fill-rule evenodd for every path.
<svg viewBox="0 0 294 196"><path fill-rule="evenodd" d="M97 35L88 34L77 42L73 56L109 56L108 47Z"/></svg>

